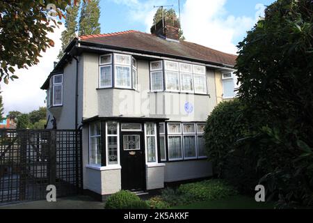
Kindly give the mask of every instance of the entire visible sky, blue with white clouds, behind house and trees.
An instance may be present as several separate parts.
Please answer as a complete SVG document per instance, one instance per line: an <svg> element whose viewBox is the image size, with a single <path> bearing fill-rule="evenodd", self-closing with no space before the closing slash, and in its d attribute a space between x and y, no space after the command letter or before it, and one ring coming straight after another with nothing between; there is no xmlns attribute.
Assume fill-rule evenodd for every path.
<svg viewBox="0 0 313 223"><path fill-rule="evenodd" d="M100 0L102 33L135 29L149 32L156 5L174 5L178 0ZM236 45L273 0L181 0L182 29L187 41L236 54ZM257 7L256 7L257 6ZM64 29L64 26L63 26ZM55 46L42 53L40 63L29 70L17 70L19 79L0 83L4 114L17 110L31 112L45 106L45 91L40 89L53 69L61 32L49 33Z"/></svg>

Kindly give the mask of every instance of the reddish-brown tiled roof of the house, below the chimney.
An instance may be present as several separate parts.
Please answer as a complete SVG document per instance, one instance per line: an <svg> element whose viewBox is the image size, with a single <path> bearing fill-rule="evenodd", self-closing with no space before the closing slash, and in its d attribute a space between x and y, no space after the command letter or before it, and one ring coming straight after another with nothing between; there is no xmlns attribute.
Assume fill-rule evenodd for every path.
<svg viewBox="0 0 313 223"><path fill-rule="evenodd" d="M227 54L187 41L168 41L141 31L129 30L116 33L80 36L80 40L88 43L167 54L168 56L185 57L186 59L223 63L230 66L234 66L236 63L236 55Z"/></svg>

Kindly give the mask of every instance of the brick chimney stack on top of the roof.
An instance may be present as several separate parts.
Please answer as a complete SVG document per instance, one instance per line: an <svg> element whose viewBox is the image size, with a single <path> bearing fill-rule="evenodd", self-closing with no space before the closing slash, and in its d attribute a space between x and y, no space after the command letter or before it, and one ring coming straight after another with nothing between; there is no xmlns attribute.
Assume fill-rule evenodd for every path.
<svg viewBox="0 0 313 223"><path fill-rule="evenodd" d="M179 40L179 29L179 21L176 15L172 15L172 17L163 17L163 20L154 24L150 31L161 38Z"/></svg>

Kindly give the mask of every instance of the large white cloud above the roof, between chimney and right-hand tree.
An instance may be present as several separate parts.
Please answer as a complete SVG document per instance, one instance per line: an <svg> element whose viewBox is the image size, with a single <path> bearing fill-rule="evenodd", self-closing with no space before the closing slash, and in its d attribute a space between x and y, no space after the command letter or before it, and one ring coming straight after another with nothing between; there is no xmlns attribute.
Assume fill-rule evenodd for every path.
<svg viewBox="0 0 313 223"><path fill-rule="evenodd" d="M236 54L234 38L243 36L255 18L227 15L226 0L187 0L182 10L186 40L223 52Z"/></svg>

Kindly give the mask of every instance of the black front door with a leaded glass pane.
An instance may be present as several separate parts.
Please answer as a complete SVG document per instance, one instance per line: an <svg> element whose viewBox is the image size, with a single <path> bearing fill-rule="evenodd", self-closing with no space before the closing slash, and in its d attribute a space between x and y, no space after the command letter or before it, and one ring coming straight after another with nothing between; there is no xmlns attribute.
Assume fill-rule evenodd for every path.
<svg viewBox="0 0 313 223"><path fill-rule="evenodd" d="M122 133L121 166L122 190L145 189L145 155L143 134Z"/></svg>

